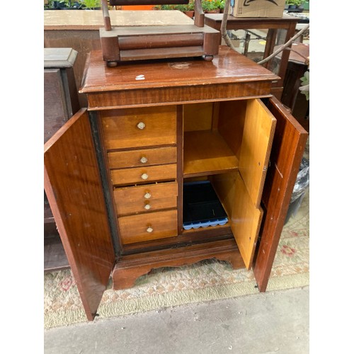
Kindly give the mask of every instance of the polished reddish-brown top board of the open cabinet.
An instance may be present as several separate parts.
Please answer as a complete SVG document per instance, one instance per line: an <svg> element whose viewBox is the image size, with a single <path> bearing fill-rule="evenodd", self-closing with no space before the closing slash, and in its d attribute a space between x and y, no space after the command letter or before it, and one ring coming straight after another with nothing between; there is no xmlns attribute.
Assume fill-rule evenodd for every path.
<svg viewBox="0 0 354 354"><path fill-rule="evenodd" d="M80 93L151 89L252 81L278 81L279 76L222 45L212 62L202 58L122 62L107 67L101 51L86 61Z"/></svg>

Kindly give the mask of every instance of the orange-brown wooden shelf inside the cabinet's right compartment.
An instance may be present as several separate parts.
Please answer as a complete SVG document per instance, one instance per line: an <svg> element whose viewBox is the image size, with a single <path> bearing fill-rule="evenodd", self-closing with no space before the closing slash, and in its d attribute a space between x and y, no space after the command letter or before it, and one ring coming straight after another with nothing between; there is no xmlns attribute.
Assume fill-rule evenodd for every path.
<svg viewBox="0 0 354 354"><path fill-rule="evenodd" d="M207 176L234 171L239 161L216 131L185 132L183 177Z"/></svg>

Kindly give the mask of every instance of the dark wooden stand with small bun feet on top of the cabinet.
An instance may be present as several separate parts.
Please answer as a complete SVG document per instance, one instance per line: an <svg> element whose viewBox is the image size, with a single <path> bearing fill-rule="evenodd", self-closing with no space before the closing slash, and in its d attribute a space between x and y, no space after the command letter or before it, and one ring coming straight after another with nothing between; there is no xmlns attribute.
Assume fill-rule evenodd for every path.
<svg viewBox="0 0 354 354"><path fill-rule="evenodd" d="M176 57L203 57L211 61L219 50L220 33L204 24L201 0L195 0L194 21L169 25L118 25L112 27L107 0L102 0L104 28L100 28L103 59L108 67L119 62ZM188 0L110 0L110 5L188 4ZM134 11L137 13L140 11ZM164 14L159 11L161 23Z"/></svg>

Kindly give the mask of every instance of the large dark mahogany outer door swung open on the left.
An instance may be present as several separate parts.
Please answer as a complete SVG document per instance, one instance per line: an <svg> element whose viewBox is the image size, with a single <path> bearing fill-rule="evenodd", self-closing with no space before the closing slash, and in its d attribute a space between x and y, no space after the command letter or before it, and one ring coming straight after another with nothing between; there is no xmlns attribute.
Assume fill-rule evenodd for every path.
<svg viewBox="0 0 354 354"><path fill-rule="evenodd" d="M86 316L93 320L115 253L86 109L45 143L44 163L45 193Z"/></svg>

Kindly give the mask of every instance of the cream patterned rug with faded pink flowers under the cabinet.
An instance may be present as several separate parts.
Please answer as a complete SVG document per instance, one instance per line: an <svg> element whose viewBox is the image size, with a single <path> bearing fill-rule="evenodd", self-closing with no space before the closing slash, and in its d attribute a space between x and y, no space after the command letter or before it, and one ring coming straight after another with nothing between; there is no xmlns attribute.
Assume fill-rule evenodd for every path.
<svg viewBox="0 0 354 354"><path fill-rule="evenodd" d="M45 329L86 322L70 270L45 273ZM252 270L233 270L224 261L207 260L178 268L159 268L140 277L135 287L103 294L99 318L258 293ZM309 285L309 192L285 225L267 291Z"/></svg>

